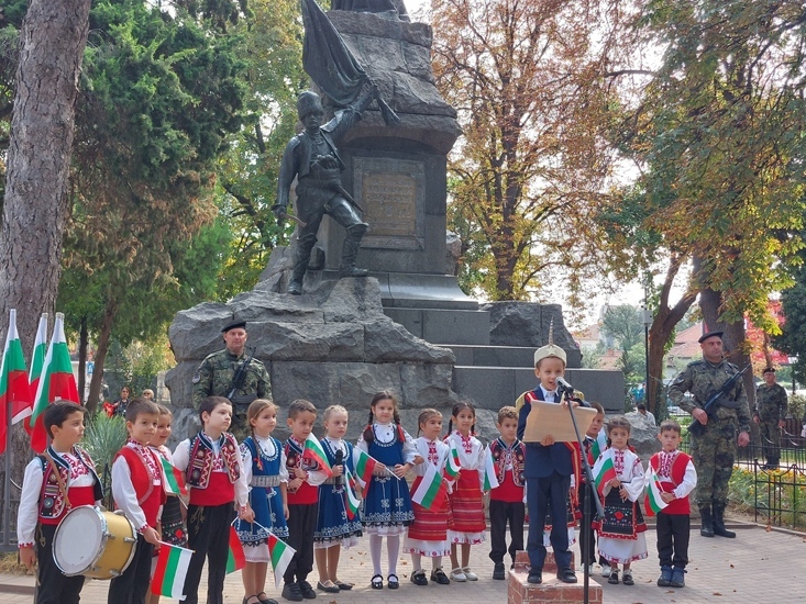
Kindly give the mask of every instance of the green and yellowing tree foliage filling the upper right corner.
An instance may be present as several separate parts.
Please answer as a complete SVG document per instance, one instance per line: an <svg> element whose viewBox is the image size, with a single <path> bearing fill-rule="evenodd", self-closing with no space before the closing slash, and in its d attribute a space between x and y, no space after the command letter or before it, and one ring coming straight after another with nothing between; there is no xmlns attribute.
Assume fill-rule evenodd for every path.
<svg viewBox="0 0 806 604"><path fill-rule="evenodd" d="M696 260L684 303L666 298L655 315L653 367L697 292L731 348L744 313L777 329L768 298L803 245L804 23L794 1L643 3L639 34L664 53L617 130L641 175L605 222L622 266L671 258L664 288Z"/></svg>

